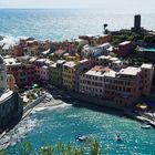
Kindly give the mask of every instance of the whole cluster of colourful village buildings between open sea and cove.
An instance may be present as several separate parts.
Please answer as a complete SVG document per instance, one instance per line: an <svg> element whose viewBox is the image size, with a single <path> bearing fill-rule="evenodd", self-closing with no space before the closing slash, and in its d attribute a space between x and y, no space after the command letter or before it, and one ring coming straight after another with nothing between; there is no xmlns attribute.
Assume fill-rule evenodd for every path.
<svg viewBox="0 0 155 155"><path fill-rule="evenodd" d="M121 58L133 51L132 42L117 46L110 42L108 34L80 35L60 43L21 39L12 54L3 55L8 85L13 89L16 84L24 87L50 83L118 107L131 105L149 94L154 68L146 63L126 66Z"/></svg>

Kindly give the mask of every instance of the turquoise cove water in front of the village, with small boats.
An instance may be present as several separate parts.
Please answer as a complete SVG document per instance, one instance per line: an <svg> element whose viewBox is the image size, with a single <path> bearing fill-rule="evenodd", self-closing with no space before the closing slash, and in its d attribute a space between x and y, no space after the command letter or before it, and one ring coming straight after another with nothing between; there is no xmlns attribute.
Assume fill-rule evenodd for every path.
<svg viewBox="0 0 155 155"><path fill-rule="evenodd" d="M155 131L141 128L141 123L124 117L112 110L101 111L81 106L62 106L33 113L28 120L35 122L21 142L32 142L38 151L41 145L58 142L75 142L75 135L95 137L102 145L102 154L108 155L154 155ZM35 121L34 121L35 120ZM27 122L25 122L27 124ZM21 126L23 127L23 126ZM115 141L116 133L122 142ZM11 154L20 155L21 143L10 147Z"/></svg>

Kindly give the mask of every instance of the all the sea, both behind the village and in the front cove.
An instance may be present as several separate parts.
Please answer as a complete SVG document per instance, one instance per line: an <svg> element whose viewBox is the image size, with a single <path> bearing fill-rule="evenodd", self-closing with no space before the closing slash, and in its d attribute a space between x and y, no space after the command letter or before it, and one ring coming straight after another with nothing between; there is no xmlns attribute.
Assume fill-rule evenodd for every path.
<svg viewBox="0 0 155 155"><path fill-rule="evenodd" d="M11 40L32 37L52 41L72 40L80 34L102 34L103 23L110 30L130 29L134 14L110 13L104 10L0 10L0 34ZM154 30L155 14L142 14L142 27ZM101 108L101 107L100 107ZM106 155L154 155L155 131L142 130L141 123L103 107L75 107L65 105L37 111L23 120L13 138L20 141L9 147L11 155L20 155L22 142L39 147L45 143L75 142L75 135L97 138ZM115 141L120 133L123 141Z"/></svg>

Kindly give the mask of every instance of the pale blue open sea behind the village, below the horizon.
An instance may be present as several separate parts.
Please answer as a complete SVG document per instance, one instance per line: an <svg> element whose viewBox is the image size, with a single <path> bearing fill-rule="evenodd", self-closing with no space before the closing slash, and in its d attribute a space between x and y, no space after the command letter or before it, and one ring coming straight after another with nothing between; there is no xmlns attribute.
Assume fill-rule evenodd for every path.
<svg viewBox="0 0 155 155"><path fill-rule="evenodd" d="M114 11L113 11L114 12ZM134 13L110 13L104 10L0 10L0 34L13 38L66 40L80 34L102 34L110 30L130 29ZM155 29L155 14L142 14L142 27Z"/></svg>

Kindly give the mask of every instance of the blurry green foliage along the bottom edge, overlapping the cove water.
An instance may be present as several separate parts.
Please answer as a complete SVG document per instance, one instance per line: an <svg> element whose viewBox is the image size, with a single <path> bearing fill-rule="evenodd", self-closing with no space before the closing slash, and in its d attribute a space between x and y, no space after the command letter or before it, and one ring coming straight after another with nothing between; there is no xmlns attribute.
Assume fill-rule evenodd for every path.
<svg viewBox="0 0 155 155"><path fill-rule="evenodd" d="M21 145L19 153L21 155L84 155L87 153L90 155L101 155L101 146L97 141L87 138L81 146L78 146L74 143L59 143L55 146L46 144L40 148L39 153L37 153L32 144L30 142L25 142ZM0 151L0 155L10 154L6 151Z"/></svg>

